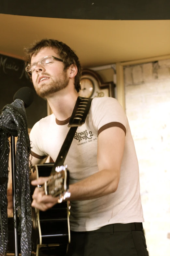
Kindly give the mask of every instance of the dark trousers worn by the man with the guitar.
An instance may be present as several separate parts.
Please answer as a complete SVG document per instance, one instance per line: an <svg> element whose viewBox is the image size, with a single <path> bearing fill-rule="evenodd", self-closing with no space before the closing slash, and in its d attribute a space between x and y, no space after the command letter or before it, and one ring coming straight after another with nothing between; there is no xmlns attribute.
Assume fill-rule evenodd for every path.
<svg viewBox="0 0 170 256"><path fill-rule="evenodd" d="M98 230L71 231L66 256L149 256L142 223L110 224Z"/></svg>

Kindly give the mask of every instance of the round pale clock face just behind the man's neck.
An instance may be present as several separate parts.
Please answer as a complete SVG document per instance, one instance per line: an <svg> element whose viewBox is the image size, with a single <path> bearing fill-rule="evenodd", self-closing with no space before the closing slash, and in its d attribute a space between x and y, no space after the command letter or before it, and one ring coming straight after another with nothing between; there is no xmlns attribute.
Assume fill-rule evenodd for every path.
<svg viewBox="0 0 170 256"><path fill-rule="evenodd" d="M79 92L80 97L90 98L94 92L94 83L88 77L83 77L80 80L81 91Z"/></svg>

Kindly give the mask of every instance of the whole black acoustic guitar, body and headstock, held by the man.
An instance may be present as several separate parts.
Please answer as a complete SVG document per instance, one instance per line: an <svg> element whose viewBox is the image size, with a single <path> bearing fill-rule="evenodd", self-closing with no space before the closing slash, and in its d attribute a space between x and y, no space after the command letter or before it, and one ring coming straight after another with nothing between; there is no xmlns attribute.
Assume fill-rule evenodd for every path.
<svg viewBox="0 0 170 256"><path fill-rule="evenodd" d="M33 169L35 179L38 179L38 177L49 177L53 164L35 165ZM42 187L46 195L58 196L59 199L58 204L46 212L32 207L31 256L64 256L70 243L69 203L66 200L63 201L70 196L68 192L69 171L67 170L67 166L58 166L56 168L56 174L51 175ZM35 186L30 185L30 188L32 198ZM8 251L11 255L14 253L13 218L8 218L8 229ZM21 251L20 248L19 251Z"/></svg>

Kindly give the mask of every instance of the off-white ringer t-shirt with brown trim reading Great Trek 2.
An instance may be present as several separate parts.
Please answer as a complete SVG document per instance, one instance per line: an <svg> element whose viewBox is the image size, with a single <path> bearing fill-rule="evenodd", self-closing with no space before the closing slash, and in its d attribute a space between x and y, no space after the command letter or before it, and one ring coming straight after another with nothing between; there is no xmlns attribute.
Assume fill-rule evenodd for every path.
<svg viewBox="0 0 170 256"><path fill-rule="evenodd" d="M69 128L69 119L56 120L54 114L42 118L31 130L32 153L36 158L50 156L55 162ZM116 192L90 200L71 201L70 229L97 230L113 223L143 222L139 167L127 117L119 102L111 97L94 98L85 124L78 127L64 164L70 171L70 184L98 172L97 136L118 126L126 134Z"/></svg>

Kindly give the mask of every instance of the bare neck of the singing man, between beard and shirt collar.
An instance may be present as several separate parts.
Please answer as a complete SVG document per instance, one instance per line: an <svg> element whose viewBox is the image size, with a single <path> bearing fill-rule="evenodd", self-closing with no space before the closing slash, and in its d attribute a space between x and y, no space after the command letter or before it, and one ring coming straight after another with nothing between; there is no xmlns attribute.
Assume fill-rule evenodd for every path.
<svg viewBox="0 0 170 256"><path fill-rule="evenodd" d="M60 121L64 121L71 116L77 98L78 93L76 90L66 92L62 90L48 96L47 100L55 117Z"/></svg>

